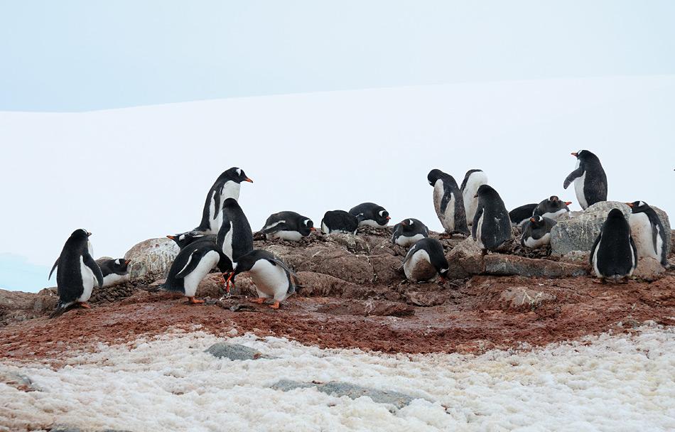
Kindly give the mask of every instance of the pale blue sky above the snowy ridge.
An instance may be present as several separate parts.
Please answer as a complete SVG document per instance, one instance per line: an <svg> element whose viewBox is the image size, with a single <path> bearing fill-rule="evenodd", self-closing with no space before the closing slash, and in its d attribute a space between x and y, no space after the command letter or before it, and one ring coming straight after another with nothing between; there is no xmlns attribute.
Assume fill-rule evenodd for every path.
<svg viewBox="0 0 675 432"><path fill-rule="evenodd" d="M0 110L675 72L675 1L0 0Z"/></svg>

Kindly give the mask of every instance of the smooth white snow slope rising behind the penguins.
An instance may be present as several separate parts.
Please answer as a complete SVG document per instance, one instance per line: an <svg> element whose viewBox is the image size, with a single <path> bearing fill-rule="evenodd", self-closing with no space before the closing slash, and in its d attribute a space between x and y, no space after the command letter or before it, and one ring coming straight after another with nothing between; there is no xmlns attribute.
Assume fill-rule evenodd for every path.
<svg viewBox="0 0 675 432"><path fill-rule="evenodd" d="M255 181L241 195L254 229L272 212L295 210L318 225L326 210L364 201L387 207L392 222L416 217L441 229L431 168L458 183L482 168L509 207L553 194L575 201L562 183L580 148L603 161L611 200L673 215L673 112L675 75L1 112L0 252L51 266L85 227L97 256L119 257L195 227L207 189L230 166Z"/></svg>

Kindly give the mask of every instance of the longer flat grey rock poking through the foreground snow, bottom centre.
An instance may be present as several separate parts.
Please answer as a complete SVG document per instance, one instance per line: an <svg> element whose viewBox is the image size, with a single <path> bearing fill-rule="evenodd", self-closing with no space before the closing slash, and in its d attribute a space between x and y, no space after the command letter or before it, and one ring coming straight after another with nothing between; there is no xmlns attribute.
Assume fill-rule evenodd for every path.
<svg viewBox="0 0 675 432"><path fill-rule="evenodd" d="M410 404L411 401L417 399L399 392L370 389L369 387L361 387L357 384L350 384L347 382L326 382L315 384L311 382L297 382L288 379L282 379L271 386L272 389L281 390L282 392L288 392L293 389L306 389L309 387L314 387L319 392L325 394L338 397L347 396L350 399L357 399L361 396L367 396L377 404L390 404L395 406L397 409L401 409L404 406Z"/></svg>

